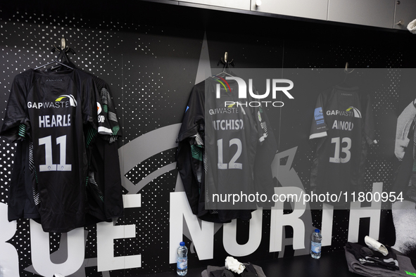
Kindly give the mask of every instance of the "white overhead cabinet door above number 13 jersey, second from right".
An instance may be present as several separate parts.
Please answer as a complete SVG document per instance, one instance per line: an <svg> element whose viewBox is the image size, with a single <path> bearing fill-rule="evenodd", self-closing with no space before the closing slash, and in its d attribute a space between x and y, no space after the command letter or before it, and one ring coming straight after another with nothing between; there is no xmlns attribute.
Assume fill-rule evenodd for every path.
<svg viewBox="0 0 416 277"><path fill-rule="evenodd" d="M328 20L393 28L395 4L396 0L329 0Z"/></svg>

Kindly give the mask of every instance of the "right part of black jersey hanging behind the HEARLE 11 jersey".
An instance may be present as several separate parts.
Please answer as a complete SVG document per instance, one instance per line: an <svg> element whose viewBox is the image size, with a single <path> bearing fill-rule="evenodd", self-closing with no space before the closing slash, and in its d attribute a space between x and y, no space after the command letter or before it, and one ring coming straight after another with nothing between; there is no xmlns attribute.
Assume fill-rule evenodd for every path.
<svg viewBox="0 0 416 277"><path fill-rule="evenodd" d="M108 221L123 214L121 174L117 143L121 136L115 105L108 84L91 76L93 89L88 99L93 124L86 128L88 178L86 193L89 216L87 224Z"/></svg>

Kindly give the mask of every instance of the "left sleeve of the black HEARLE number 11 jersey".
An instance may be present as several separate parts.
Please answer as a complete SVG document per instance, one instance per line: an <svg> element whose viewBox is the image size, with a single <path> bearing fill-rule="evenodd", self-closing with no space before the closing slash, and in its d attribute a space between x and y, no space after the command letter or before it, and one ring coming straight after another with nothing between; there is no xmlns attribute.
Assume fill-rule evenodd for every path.
<svg viewBox="0 0 416 277"><path fill-rule="evenodd" d="M6 115L0 131L0 135L11 142L24 139L25 133L30 131L30 121L26 108L26 94L30 89L29 79L17 75L11 85Z"/></svg>

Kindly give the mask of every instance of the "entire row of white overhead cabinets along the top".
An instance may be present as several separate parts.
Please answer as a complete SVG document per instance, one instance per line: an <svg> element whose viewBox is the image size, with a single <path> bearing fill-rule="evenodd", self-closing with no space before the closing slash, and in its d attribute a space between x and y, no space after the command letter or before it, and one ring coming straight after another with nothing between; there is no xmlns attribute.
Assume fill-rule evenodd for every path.
<svg viewBox="0 0 416 277"><path fill-rule="evenodd" d="M416 19L416 0L177 0L192 4L236 8L245 11L288 15L406 30ZM208 8L208 7L207 7Z"/></svg>

